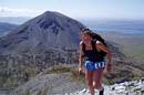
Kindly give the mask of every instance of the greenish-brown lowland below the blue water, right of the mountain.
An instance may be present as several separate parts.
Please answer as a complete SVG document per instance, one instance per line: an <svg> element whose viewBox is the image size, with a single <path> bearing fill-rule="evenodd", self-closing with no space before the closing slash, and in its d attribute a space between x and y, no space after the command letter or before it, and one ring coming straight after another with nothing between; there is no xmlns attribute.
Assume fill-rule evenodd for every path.
<svg viewBox="0 0 144 95"><path fill-rule="evenodd" d="M105 40L120 44L122 52L138 62L144 62L144 35L126 35L112 32L99 32Z"/></svg>

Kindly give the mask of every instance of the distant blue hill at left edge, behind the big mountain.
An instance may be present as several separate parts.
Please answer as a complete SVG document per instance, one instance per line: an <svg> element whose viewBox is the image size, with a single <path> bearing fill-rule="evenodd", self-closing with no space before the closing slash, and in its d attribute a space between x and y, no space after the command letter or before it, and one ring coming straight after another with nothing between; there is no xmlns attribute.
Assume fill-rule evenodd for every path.
<svg viewBox="0 0 144 95"><path fill-rule="evenodd" d="M17 28L16 24L0 22L0 36L6 35L7 33L14 30L16 28Z"/></svg>

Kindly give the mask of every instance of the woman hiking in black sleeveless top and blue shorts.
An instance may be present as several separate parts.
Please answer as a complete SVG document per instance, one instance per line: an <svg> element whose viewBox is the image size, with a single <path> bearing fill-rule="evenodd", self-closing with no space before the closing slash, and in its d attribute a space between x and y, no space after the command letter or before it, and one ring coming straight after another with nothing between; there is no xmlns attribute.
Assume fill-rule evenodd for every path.
<svg viewBox="0 0 144 95"><path fill-rule="evenodd" d="M92 45L94 43L94 48ZM84 45L84 50L83 50ZM97 52L103 51L106 53L106 62L104 57L100 56ZM93 41L89 29L82 31L82 41L80 42L80 59L79 72L82 72L82 62L85 57L85 80L90 88L91 95L94 95L94 88L100 89L100 95L103 95L104 88L102 87L103 71L111 71L111 51L101 41Z"/></svg>

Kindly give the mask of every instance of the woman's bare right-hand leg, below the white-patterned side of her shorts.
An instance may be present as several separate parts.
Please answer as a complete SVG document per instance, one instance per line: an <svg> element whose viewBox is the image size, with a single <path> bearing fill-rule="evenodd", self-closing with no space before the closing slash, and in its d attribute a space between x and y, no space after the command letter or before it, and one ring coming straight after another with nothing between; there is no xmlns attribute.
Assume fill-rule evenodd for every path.
<svg viewBox="0 0 144 95"><path fill-rule="evenodd" d="M102 77L103 77L103 71L104 68L99 68L94 71L93 81L94 81L94 88L102 89Z"/></svg>

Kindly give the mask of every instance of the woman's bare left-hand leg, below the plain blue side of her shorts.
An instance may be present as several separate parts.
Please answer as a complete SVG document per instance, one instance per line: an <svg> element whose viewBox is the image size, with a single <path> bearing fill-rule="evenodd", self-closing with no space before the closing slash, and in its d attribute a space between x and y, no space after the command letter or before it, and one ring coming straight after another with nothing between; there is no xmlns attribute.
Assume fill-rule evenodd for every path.
<svg viewBox="0 0 144 95"><path fill-rule="evenodd" d="M88 71L88 70L85 71L85 80L90 88L91 95L94 95L93 74L94 74L94 71Z"/></svg>

